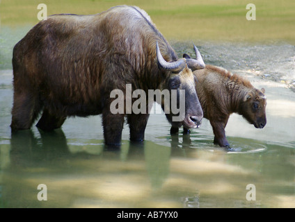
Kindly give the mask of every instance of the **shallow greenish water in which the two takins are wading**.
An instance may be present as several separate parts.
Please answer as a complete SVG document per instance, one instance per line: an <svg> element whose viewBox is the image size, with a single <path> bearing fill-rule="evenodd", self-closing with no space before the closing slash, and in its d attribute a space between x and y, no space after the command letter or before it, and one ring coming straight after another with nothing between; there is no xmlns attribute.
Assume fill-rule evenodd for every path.
<svg viewBox="0 0 295 222"><path fill-rule="evenodd" d="M6 44L0 42L0 49L9 50L1 51L7 62L0 70L0 207L295 207L295 94L288 88L294 46L199 44L205 62L266 89L266 127L256 129L233 114L225 129L231 151L213 144L207 120L191 135L180 130L171 136L164 114L151 115L143 144L129 142L125 126L121 148L112 150L104 146L100 116L69 118L52 133L33 127L10 135L7 42L13 45L17 38L1 37ZM191 48L186 42L173 45L177 51ZM270 60L268 66L266 58L275 49L284 53L279 65ZM273 78L266 78L271 65L284 75L273 71ZM38 200L44 191L40 184L47 187L47 201Z"/></svg>

